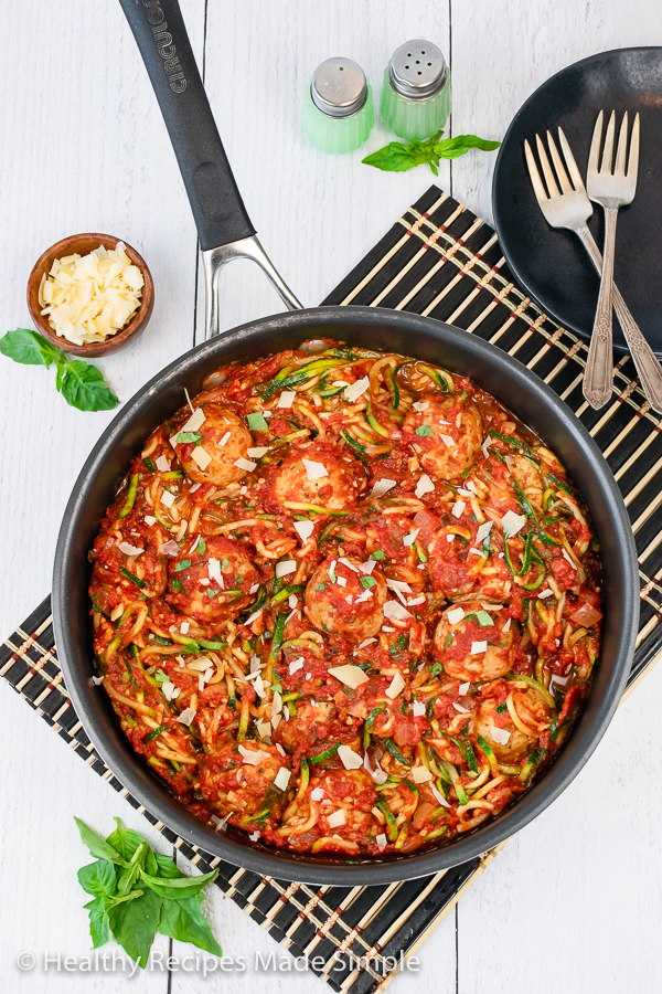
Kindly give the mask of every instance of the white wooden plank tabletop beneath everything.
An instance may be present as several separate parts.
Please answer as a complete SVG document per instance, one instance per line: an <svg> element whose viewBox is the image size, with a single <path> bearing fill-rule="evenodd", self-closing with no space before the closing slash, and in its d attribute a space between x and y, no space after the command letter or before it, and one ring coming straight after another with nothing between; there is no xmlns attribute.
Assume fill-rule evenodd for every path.
<svg viewBox="0 0 662 994"><path fill-rule="evenodd" d="M132 38L114 0L6 2L0 102L2 328L28 326L25 283L34 260L66 234L124 236L156 283L150 328L132 349L99 363L122 400L202 335L196 240L179 172ZM378 94L403 41L434 40L450 57L452 134L501 138L522 102L552 73L621 45L661 44L654 0L183 0L216 120L263 244L307 305L321 300L427 188L427 167L404 175L362 166L365 151L333 158L300 125L305 85L323 59L343 54ZM365 147L389 140L377 124ZM440 186L491 220L494 157L445 166ZM197 282L196 282L197 281ZM223 275L223 321L280 309L260 274ZM83 414L55 393L53 374L0 358L2 473L0 630L9 632L50 589L60 519L89 448L111 415ZM662 984L659 921L662 855L658 784L662 669L617 715L587 768L511 840L427 941L418 974L399 994L509 990L649 992ZM107 833L113 815L161 846L115 792L9 688L0 686L2 844L0 990L184 994L213 988L322 991L311 974L253 970L273 940L220 891L207 912L244 973L44 970L43 954L89 949L86 861L74 813ZM183 948L174 944L175 954ZM167 952L167 941L156 948ZM17 966L19 953L38 958ZM287 955L282 954L286 959ZM279 953L280 956L280 953Z"/></svg>

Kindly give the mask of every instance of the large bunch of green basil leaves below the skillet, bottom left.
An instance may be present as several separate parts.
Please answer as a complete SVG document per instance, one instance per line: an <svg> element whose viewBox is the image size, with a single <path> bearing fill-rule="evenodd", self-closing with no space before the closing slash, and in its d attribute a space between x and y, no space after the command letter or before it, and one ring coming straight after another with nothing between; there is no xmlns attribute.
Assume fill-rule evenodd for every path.
<svg viewBox="0 0 662 994"><path fill-rule="evenodd" d="M147 839L125 828L119 818L115 821L117 828L104 839L76 818L83 843L97 857L78 870L81 887L93 898L85 905L93 948L108 942L113 932L125 952L145 967L160 932L221 956L201 910L202 890L218 870L186 877L169 856L153 853Z"/></svg>

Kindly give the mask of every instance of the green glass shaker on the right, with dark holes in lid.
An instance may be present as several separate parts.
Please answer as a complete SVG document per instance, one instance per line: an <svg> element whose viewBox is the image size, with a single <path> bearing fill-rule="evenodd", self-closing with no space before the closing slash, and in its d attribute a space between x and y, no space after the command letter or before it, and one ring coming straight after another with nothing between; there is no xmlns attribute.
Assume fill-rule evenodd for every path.
<svg viewBox="0 0 662 994"><path fill-rule="evenodd" d="M418 38L396 49L384 71L384 124L401 138L430 138L450 114L450 71L431 42Z"/></svg>

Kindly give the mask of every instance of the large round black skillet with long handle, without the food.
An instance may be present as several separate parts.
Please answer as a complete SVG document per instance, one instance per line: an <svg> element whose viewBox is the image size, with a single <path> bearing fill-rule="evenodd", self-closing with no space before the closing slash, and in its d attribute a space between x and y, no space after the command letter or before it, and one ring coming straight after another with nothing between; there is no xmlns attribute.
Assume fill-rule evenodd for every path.
<svg viewBox="0 0 662 994"><path fill-rule="evenodd" d="M232 257L232 251L242 252L246 240L253 239L254 229L223 152L179 4L177 0L120 2L168 124L203 252L210 254L207 258ZM255 257L255 250L250 254ZM282 285L280 292L288 296ZM289 303L296 306L291 295ZM183 388L195 394L221 363L245 362L320 337L440 363L490 391L566 464L609 563L604 647L590 697L548 772L512 808L467 836L431 852L361 864L329 854L298 856L270 849L252 844L244 833L215 832L194 818L134 752L107 695L92 683L87 550L134 454L181 405ZM634 543L621 496L595 442L570 410L524 366L493 346L430 318L371 307L298 309L253 321L192 349L139 390L104 432L76 482L60 532L53 580L55 637L72 701L95 747L134 796L182 838L232 864L280 879L349 886L419 877L473 858L517 832L557 797L587 761L617 707L634 646L638 603Z"/></svg>

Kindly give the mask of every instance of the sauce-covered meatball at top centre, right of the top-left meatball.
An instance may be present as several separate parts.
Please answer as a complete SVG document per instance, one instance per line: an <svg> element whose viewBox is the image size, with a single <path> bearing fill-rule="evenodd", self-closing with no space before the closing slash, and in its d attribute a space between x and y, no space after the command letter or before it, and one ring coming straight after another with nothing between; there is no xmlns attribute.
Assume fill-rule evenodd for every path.
<svg viewBox="0 0 662 994"><path fill-rule="evenodd" d="M322 467L325 475L318 476ZM365 470L353 455L334 442L312 442L292 448L270 470L265 503L271 511L287 511L291 503L343 510L355 507L364 488Z"/></svg>

